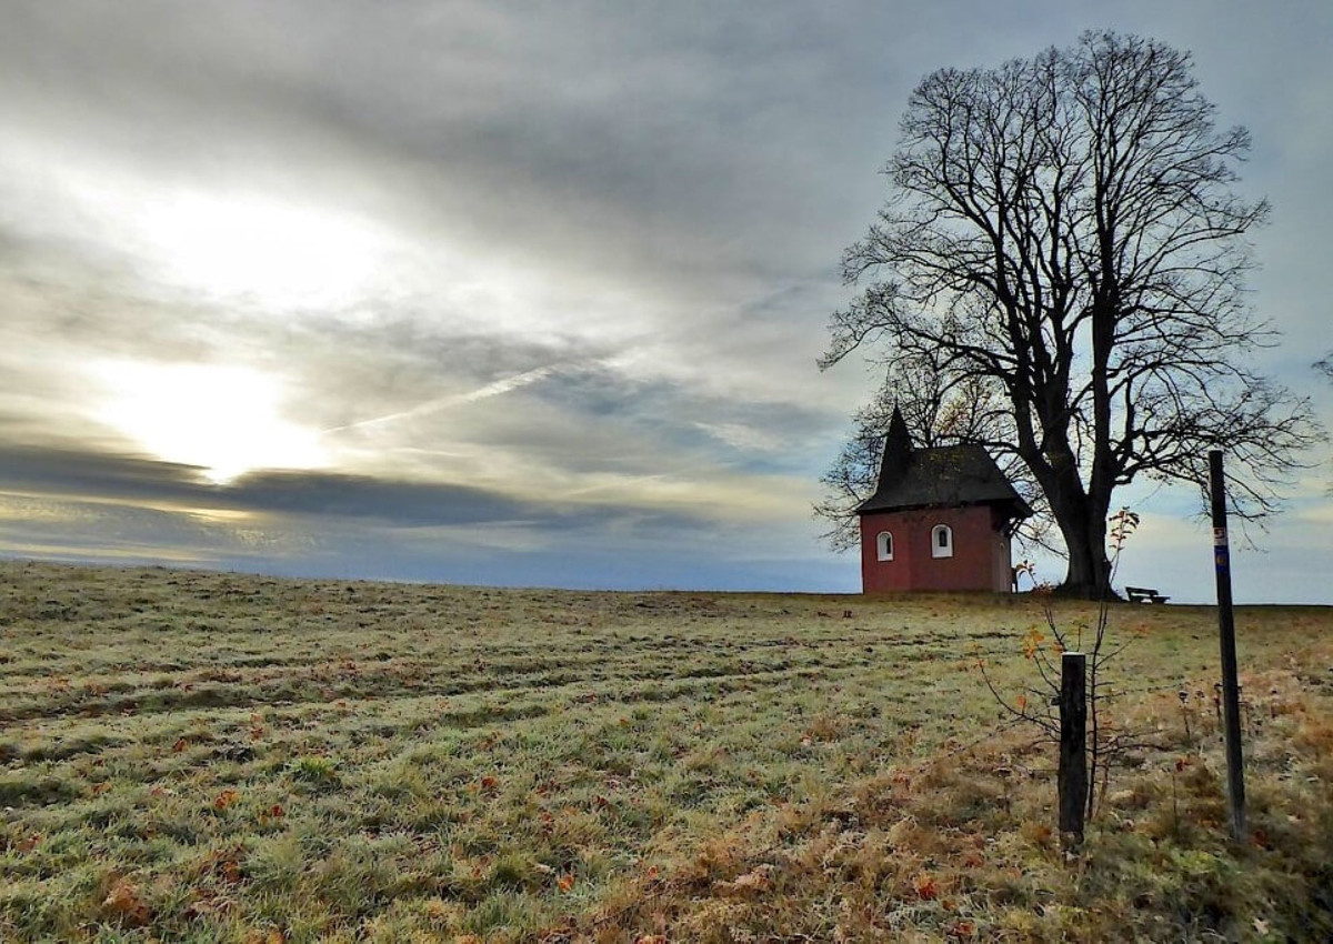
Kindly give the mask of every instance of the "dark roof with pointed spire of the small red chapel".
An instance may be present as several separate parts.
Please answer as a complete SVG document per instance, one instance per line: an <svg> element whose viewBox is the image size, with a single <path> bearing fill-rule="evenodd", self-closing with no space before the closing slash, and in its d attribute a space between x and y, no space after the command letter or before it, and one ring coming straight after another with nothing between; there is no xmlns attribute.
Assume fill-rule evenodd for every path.
<svg viewBox="0 0 1333 944"><path fill-rule="evenodd" d="M878 484L857 513L977 504L1008 504L1009 513L1017 519L1032 515L1032 508L984 447L913 449L906 423L894 408L880 460Z"/></svg>

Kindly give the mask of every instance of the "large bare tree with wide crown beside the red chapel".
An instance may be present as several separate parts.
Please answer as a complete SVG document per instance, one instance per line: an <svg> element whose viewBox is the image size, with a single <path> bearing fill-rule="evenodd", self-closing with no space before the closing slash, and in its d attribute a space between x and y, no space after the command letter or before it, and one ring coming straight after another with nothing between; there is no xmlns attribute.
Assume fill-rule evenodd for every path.
<svg viewBox="0 0 1333 944"><path fill-rule="evenodd" d="M962 439L1021 463L1065 545L1065 589L1092 597L1117 487L1202 495L1206 451L1225 448L1234 513L1261 517L1317 432L1308 403L1248 365L1274 339L1245 297L1268 204L1233 192L1249 133L1216 128L1192 65L1089 32L928 76L885 168L892 197L844 257L864 291L821 361L870 345L890 396L928 364L941 389L982 397Z"/></svg>

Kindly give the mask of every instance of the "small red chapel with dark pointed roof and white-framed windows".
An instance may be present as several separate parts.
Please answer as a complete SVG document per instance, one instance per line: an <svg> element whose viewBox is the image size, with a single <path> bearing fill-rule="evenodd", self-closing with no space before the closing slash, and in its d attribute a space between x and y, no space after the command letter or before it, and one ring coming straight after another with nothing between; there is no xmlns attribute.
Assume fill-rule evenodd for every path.
<svg viewBox="0 0 1333 944"><path fill-rule="evenodd" d="M980 445L913 449L894 408L861 521L861 592L1008 593L1014 525L1032 508Z"/></svg>

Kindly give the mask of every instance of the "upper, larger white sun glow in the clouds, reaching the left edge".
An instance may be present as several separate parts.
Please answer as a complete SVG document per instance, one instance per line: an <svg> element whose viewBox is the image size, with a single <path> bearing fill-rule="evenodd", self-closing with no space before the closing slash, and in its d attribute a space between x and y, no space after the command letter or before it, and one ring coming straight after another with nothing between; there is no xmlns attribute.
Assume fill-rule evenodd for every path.
<svg viewBox="0 0 1333 944"><path fill-rule="evenodd" d="M203 184L69 155L40 133L5 145L0 171L27 185L3 196L29 232L109 249L143 284L196 303L336 309L383 292L405 251L375 213L296 176Z"/></svg>

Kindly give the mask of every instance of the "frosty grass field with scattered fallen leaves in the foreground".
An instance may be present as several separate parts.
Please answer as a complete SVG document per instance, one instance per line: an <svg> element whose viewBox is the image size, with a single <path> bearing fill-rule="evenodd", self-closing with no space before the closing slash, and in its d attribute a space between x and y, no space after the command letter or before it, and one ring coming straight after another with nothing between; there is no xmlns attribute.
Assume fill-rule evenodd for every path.
<svg viewBox="0 0 1333 944"><path fill-rule="evenodd" d="M1237 624L1252 835L1216 615L1117 604L1110 711L1156 747L1066 853L977 668L1032 679L1033 597L0 563L0 937L1324 939L1333 611Z"/></svg>

